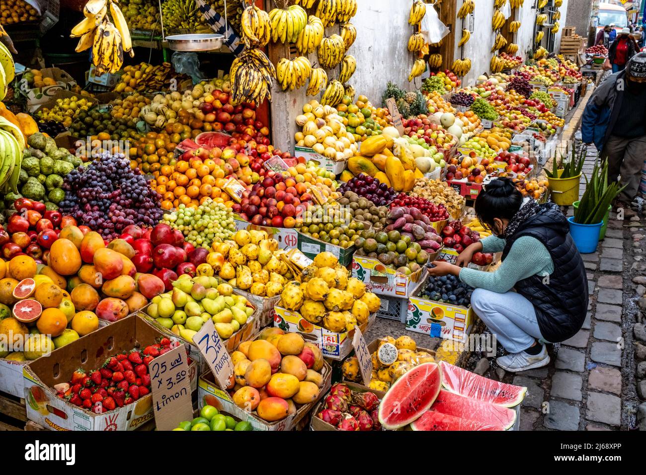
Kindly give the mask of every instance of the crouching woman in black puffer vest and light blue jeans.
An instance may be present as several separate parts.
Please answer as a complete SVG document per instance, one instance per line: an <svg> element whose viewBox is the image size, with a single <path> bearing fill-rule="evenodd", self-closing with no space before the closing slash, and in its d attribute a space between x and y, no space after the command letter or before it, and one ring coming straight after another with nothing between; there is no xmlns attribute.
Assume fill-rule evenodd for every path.
<svg viewBox="0 0 646 475"><path fill-rule="evenodd" d="M472 308L509 352L497 359L501 368L545 366L545 343L573 337L588 307L585 266L567 220L556 204L523 198L510 178L483 185L475 214L492 235L470 244L456 264L435 261L428 272L455 275L475 288ZM499 251L502 264L494 272L466 267L477 252Z"/></svg>

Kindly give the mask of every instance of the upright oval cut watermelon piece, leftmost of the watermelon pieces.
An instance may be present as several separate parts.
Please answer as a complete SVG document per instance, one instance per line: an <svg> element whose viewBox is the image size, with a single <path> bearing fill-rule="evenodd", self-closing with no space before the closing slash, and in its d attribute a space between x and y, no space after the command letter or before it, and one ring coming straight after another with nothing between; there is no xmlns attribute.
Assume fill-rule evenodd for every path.
<svg viewBox="0 0 646 475"><path fill-rule="evenodd" d="M435 401L442 386L437 363L423 363L408 370L390 386L379 405L379 422L386 429L412 423Z"/></svg>

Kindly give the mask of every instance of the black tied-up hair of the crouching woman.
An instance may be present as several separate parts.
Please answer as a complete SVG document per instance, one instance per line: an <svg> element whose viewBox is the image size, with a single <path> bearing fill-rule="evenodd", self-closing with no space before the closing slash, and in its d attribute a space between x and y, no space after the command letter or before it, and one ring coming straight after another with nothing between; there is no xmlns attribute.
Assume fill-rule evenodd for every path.
<svg viewBox="0 0 646 475"><path fill-rule="evenodd" d="M486 227L492 227L494 218L511 219L523 205L523 195L511 178L491 180L475 198L475 215Z"/></svg>

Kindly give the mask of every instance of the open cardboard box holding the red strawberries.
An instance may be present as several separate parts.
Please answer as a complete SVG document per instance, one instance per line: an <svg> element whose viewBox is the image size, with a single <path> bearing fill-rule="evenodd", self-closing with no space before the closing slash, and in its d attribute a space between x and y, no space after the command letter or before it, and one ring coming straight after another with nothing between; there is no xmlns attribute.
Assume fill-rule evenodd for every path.
<svg viewBox="0 0 646 475"><path fill-rule="evenodd" d="M56 396L54 385L68 383L74 370L100 368L112 355L158 343L164 333L134 315L54 350L25 366L27 417L52 430L136 430L154 418L152 393L136 402L94 414ZM189 365L191 391L197 388L197 363Z"/></svg>

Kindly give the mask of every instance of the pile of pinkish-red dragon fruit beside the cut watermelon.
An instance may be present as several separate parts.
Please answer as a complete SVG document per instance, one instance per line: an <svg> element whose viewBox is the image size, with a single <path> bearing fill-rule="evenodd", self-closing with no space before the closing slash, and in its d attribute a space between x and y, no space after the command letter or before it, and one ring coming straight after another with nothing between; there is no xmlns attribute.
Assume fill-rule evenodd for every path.
<svg viewBox="0 0 646 475"><path fill-rule="evenodd" d="M341 383L332 385L317 417L339 430L381 430L377 396L352 391Z"/></svg>

